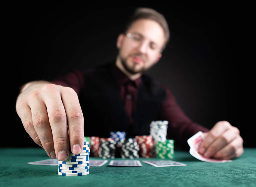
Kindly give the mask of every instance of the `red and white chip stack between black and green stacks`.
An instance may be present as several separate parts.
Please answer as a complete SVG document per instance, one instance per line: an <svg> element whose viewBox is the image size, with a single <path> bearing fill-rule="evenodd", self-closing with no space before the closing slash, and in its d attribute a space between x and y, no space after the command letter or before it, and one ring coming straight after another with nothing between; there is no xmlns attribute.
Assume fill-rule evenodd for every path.
<svg viewBox="0 0 256 187"><path fill-rule="evenodd" d="M135 136L135 139L139 145L139 156L143 158L154 157L154 143L153 137L148 136Z"/></svg>

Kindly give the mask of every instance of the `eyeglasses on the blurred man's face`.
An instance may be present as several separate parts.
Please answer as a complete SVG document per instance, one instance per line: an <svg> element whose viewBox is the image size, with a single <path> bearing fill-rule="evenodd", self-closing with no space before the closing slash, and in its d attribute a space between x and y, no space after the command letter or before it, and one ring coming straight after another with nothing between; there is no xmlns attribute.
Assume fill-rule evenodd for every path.
<svg viewBox="0 0 256 187"><path fill-rule="evenodd" d="M141 46L146 39L140 33L127 33L126 36L130 39L134 47ZM151 52L161 53L162 49L153 41L148 41L147 49Z"/></svg>

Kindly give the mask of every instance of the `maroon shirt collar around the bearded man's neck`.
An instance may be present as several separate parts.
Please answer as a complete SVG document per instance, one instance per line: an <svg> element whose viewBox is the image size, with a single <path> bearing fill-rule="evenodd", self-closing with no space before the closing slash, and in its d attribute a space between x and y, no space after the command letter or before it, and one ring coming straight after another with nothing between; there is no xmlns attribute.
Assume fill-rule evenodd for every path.
<svg viewBox="0 0 256 187"><path fill-rule="evenodd" d="M115 64L113 64L111 71L119 87L123 86L127 81L130 80L130 78L125 75ZM140 80L141 77L131 81L133 81L135 86L138 88L140 85Z"/></svg>

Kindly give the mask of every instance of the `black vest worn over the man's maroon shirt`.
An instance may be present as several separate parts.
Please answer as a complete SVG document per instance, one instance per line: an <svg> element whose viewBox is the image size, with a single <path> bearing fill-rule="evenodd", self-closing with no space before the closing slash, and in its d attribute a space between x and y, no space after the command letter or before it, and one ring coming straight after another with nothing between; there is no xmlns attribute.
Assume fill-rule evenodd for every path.
<svg viewBox="0 0 256 187"><path fill-rule="evenodd" d="M84 116L84 135L110 137L111 131L124 131L126 137L149 135L150 123L157 117L166 98L164 88L147 75L141 78L137 103L130 125L118 85L112 75L113 64L83 72L84 87L79 99Z"/></svg>

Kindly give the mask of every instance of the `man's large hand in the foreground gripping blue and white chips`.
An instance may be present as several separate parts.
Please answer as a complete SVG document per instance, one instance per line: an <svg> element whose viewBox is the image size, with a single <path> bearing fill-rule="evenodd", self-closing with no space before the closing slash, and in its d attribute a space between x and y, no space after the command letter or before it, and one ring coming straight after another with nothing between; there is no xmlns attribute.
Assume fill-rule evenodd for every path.
<svg viewBox="0 0 256 187"><path fill-rule="evenodd" d="M21 90L16 111L25 130L50 158L66 160L69 150L83 150L83 114L77 93L46 81L27 83Z"/></svg>

